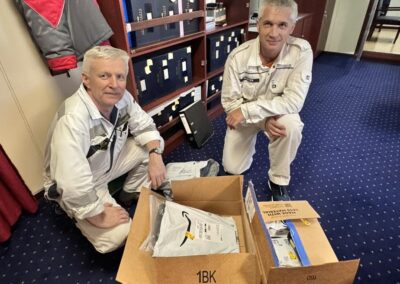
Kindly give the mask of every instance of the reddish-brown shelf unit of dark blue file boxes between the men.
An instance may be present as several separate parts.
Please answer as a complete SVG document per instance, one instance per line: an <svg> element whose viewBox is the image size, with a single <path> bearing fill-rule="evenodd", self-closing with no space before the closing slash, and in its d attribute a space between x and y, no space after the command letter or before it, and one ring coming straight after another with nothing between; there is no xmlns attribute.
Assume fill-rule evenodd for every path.
<svg viewBox="0 0 400 284"><path fill-rule="evenodd" d="M208 80L222 78L227 55L245 40L248 0L218 1L225 8L226 23L207 31L205 2L98 0L114 31L111 44L132 59L127 89L153 117L166 140L166 152L185 137L179 120L185 106L202 100L213 108L208 109L210 118L222 112L220 91L208 95ZM246 10L238 13L239 7ZM213 49L212 42L219 47Z"/></svg>

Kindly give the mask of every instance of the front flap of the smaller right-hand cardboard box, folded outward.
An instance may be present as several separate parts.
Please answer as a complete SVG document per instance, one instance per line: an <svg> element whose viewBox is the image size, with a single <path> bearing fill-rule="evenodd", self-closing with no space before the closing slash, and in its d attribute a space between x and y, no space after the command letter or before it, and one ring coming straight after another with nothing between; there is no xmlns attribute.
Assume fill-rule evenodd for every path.
<svg viewBox="0 0 400 284"><path fill-rule="evenodd" d="M353 283L360 260L348 260L323 265L292 268L271 268L268 273L270 283Z"/></svg>

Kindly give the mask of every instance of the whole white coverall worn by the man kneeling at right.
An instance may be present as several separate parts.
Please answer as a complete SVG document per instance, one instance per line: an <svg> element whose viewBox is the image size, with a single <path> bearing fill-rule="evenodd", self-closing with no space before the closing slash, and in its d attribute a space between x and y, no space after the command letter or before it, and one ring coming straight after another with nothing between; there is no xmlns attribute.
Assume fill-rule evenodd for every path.
<svg viewBox="0 0 400 284"><path fill-rule="evenodd" d="M257 133L265 131L266 118L281 115L278 122L287 136L269 138L269 179L288 185L290 164L302 138L303 107L310 83L313 53L303 39L289 37L274 61L265 67L260 59L257 37L234 49L225 63L221 101L226 113L240 107L245 121L227 129L222 164L226 172L241 174L250 168Z"/></svg>

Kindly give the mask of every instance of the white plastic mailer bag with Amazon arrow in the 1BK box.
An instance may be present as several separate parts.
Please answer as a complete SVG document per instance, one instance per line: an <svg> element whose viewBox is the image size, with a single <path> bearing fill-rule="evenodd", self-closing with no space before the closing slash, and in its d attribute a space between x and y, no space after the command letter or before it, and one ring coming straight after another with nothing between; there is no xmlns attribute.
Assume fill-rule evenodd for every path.
<svg viewBox="0 0 400 284"><path fill-rule="evenodd" d="M222 217L166 201L153 256L238 253L239 239L232 217Z"/></svg>

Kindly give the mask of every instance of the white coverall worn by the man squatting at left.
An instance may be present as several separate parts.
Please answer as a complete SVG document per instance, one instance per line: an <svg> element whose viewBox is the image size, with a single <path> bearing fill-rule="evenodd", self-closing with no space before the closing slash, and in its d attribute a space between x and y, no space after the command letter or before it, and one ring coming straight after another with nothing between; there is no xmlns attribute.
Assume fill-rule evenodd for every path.
<svg viewBox="0 0 400 284"><path fill-rule="evenodd" d="M101 229L85 218L100 214L104 203L119 206L108 190L111 180L130 171L124 191L140 191L142 185L149 185L149 156L144 145L159 140L163 147L152 118L127 91L110 120L113 122L101 115L81 84L58 110L45 150L45 195L75 219L82 234L102 253L124 244L130 222ZM128 138L128 132L132 137ZM49 196L54 184L57 198Z"/></svg>

